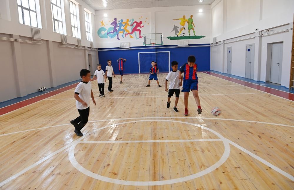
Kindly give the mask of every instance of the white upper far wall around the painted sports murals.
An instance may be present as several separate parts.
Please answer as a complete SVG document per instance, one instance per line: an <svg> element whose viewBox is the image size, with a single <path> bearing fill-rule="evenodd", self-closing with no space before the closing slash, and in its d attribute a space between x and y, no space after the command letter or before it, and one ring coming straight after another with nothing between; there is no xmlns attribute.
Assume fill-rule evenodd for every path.
<svg viewBox="0 0 294 190"><path fill-rule="evenodd" d="M202 9L203 12L199 13L198 10ZM118 9L118 10L103 10L96 11L96 33L100 29L100 21L106 21L108 23L106 28L108 28L113 21L113 18L117 19L132 19L135 21L140 21L140 18L143 18L143 28L141 36L143 34L150 33L162 33L163 34L163 45L177 45L178 40L169 40L168 36L175 36L173 30L173 25L180 26L179 20L173 21L173 19L182 18L183 15L186 16L186 19L190 18L190 15L193 15L193 22L195 24L196 35L205 36L202 39L189 39L189 44L207 44L210 43L211 38L211 12L210 6L177 6L177 7L155 7L155 8L139 8L139 9ZM107 17L103 15L107 14ZM147 18L147 19L146 19ZM146 22L145 22L146 21ZM128 28L130 30L130 27ZM182 32L185 35L188 35L188 26L186 24L186 30ZM104 33L103 33L104 34ZM193 31L190 31L191 35ZM111 48L119 47L119 42L130 42L130 46L143 46L143 38L135 39L127 36L126 38L121 38L120 40L116 38L100 38L96 34L96 40L98 42L99 48Z"/></svg>

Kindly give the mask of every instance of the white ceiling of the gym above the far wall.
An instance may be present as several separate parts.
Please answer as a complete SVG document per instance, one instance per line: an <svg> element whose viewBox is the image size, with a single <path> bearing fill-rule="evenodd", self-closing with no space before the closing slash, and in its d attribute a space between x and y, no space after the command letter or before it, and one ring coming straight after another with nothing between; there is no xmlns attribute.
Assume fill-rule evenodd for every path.
<svg viewBox="0 0 294 190"><path fill-rule="evenodd" d="M214 0L83 0L94 10L134 9L164 6L210 5ZM106 5L106 7L103 6Z"/></svg>

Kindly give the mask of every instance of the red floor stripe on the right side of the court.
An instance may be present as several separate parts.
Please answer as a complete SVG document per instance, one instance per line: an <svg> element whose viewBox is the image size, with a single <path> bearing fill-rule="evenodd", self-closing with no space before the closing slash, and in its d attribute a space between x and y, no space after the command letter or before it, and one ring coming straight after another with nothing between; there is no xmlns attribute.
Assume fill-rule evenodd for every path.
<svg viewBox="0 0 294 190"><path fill-rule="evenodd" d="M252 83L249 83L249 82L246 82L246 81L230 78L228 76L223 76L223 75L212 73L212 72L209 72L209 71L205 71L205 72L206 72L206 74L216 76L218 78L225 79L227 81L231 81L231 82L241 84L241 85L250 85L248 87L294 101L294 94L291 94L291 93L288 93L288 92L285 92L285 91L271 89L271 88L268 88L266 86L261 86L261 85L258 85L258 84L252 85Z"/></svg>

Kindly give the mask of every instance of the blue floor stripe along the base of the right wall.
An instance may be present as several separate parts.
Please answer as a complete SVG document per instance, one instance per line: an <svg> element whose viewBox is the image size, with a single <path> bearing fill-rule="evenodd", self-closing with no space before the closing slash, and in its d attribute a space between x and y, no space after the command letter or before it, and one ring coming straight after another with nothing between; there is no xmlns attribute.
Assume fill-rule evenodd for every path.
<svg viewBox="0 0 294 190"><path fill-rule="evenodd" d="M290 90L290 89L286 88L285 86L281 86L280 84L275 84L275 83L271 83L271 82L263 82L263 81L255 81L253 79L246 79L244 77L235 76L235 75L232 75L232 74L221 73L221 72L213 71L213 70L210 70L210 72L220 74L220 75L223 75L223 76L228 76L228 77L231 77L231 78L234 78L234 79L239 79L241 81L250 82L250 83L253 83L253 84L259 84L259 85L266 86L266 87L269 87L269 88L272 88L272 89L277 89L277 90L281 90L281 91L285 91L285 92L294 93L294 90Z"/></svg>

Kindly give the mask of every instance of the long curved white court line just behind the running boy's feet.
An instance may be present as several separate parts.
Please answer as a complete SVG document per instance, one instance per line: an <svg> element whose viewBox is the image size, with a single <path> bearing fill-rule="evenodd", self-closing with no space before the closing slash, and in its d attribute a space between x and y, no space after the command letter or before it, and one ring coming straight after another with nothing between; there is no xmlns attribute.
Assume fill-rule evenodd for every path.
<svg viewBox="0 0 294 190"><path fill-rule="evenodd" d="M96 120L96 121L88 121L88 123L93 123L93 122L102 122L102 121L116 121L116 120L127 120L127 119L167 119L171 117L133 117L133 118L122 118L122 119L104 119L104 120ZM183 119L183 118L189 118L189 119L212 119L212 120L225 120L225 121L240 121L240 122L250 122L250 123L260 123L260 124L270 124L270 125L279 125L279 126L285 126L285 127L294 127L292 125L285 125L285 124L277 124L277 123L268 123L268 122L262 122L262 121L249 121L249 120L240 120L240 119L223 119L223 118L216 118L216 117L173 117L173 119ZM48 126L48 127L40 127L40 128L35 128L35 129L28 129L24 131L16 131L12 133L6 133L2 134L0 136L6 136L6 135L11 135L11 134L16 134L16 133L22 133L26 131L34 131L34 130L40 130L40 129L46 129L46 128L51 128L51 127L58 127L58 126L65 126L65 125L71 125L69 124L61 124L61 125L54 125L54 126Z"/></svg>

